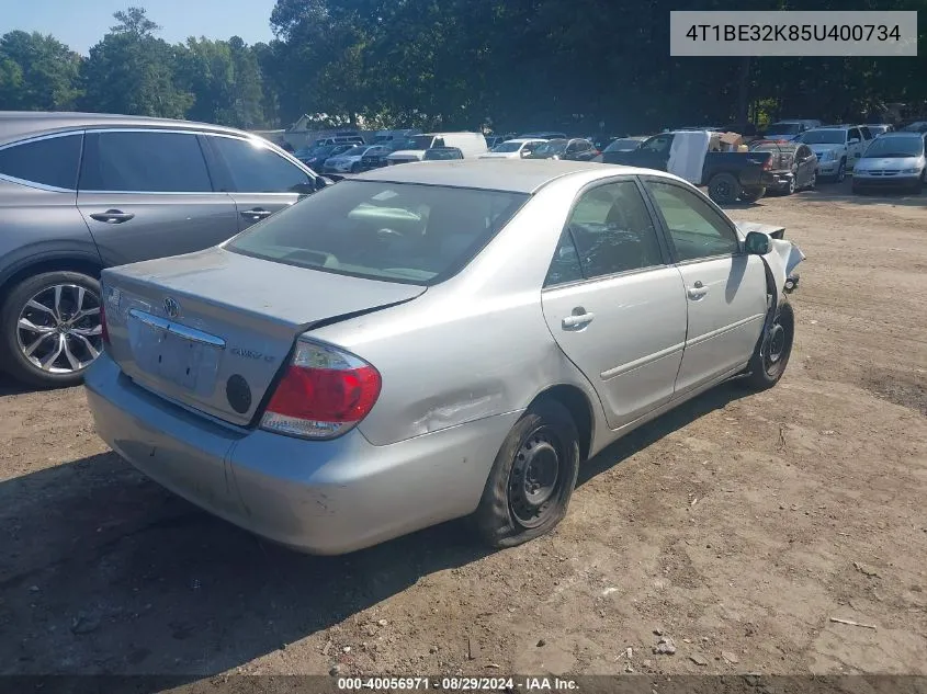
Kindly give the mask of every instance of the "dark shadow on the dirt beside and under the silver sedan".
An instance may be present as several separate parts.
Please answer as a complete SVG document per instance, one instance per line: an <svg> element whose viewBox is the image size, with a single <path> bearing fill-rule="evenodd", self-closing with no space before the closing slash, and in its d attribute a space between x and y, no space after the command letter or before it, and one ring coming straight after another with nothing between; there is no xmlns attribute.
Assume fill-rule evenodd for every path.
<svg viewBox="0 0 927 694"><path fill-rule="evenodd" d="M645 425L589 460L579 483L742 394L722 386ZM465 530L312 557L201 512L112 453L13 478L0 483L0 628L16 636L0 641L0 674L196 681L484 557Z"/></svg>

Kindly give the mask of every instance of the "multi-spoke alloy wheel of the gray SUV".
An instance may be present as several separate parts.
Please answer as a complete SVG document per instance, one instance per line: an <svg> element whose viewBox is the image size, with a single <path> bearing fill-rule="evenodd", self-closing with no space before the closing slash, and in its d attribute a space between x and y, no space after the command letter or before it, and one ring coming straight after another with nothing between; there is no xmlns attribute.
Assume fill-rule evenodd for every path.
<svg viewBox="0 0 927 694"><path fill-rule="evenodd" d="M49 374L87 368L103 348L100 297L76 284L56 284L30 298L16 321L26 360Z"/></svg>

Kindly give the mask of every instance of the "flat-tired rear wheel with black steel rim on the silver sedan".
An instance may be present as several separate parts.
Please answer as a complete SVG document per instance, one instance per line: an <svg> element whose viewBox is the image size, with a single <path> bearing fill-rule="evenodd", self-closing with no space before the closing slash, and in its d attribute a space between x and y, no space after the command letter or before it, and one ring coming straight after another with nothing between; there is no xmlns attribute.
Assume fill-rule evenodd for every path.
<svg viewBox="0 0 927 694"><path fill-rule="evenodd" d="M540 473L549 485L531 492L541 483L534 465L546 468ZM551 532L566 515L578 471L576 423L556 400L539 400L516 422L496 456L473 516L477 533L489 546L502 548ZM546 493L543 486L550 486ZM532 505L532 497L542 503Z"/></svg>

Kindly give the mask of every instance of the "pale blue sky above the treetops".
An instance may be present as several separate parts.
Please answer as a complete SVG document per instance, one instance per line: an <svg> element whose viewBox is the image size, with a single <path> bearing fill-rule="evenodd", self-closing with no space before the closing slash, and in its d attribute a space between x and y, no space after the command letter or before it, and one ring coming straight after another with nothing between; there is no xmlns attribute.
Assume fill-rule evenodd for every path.
<svg viewBox="0 0 927 694"><path fill-rule="evenodd" d="M176 43L188 36L228 38L245 43L270 41L274 0L0 0L0 34L21 29L53 34L71 49L87 55L115 24L113 12L129 5L147 10L162 26L158 36Z"/></svg>

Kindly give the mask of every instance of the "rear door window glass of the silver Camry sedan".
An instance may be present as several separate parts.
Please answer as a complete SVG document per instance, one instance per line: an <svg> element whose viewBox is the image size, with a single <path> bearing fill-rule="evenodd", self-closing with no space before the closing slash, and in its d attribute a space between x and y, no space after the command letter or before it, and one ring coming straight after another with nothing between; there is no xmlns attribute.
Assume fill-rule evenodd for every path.
<svg viewBox="0 0 927 694"><path fill-rule="evenodd" d="M586 278L663 264L656 228L634 181L583 193L567 228Z"/></svg>

